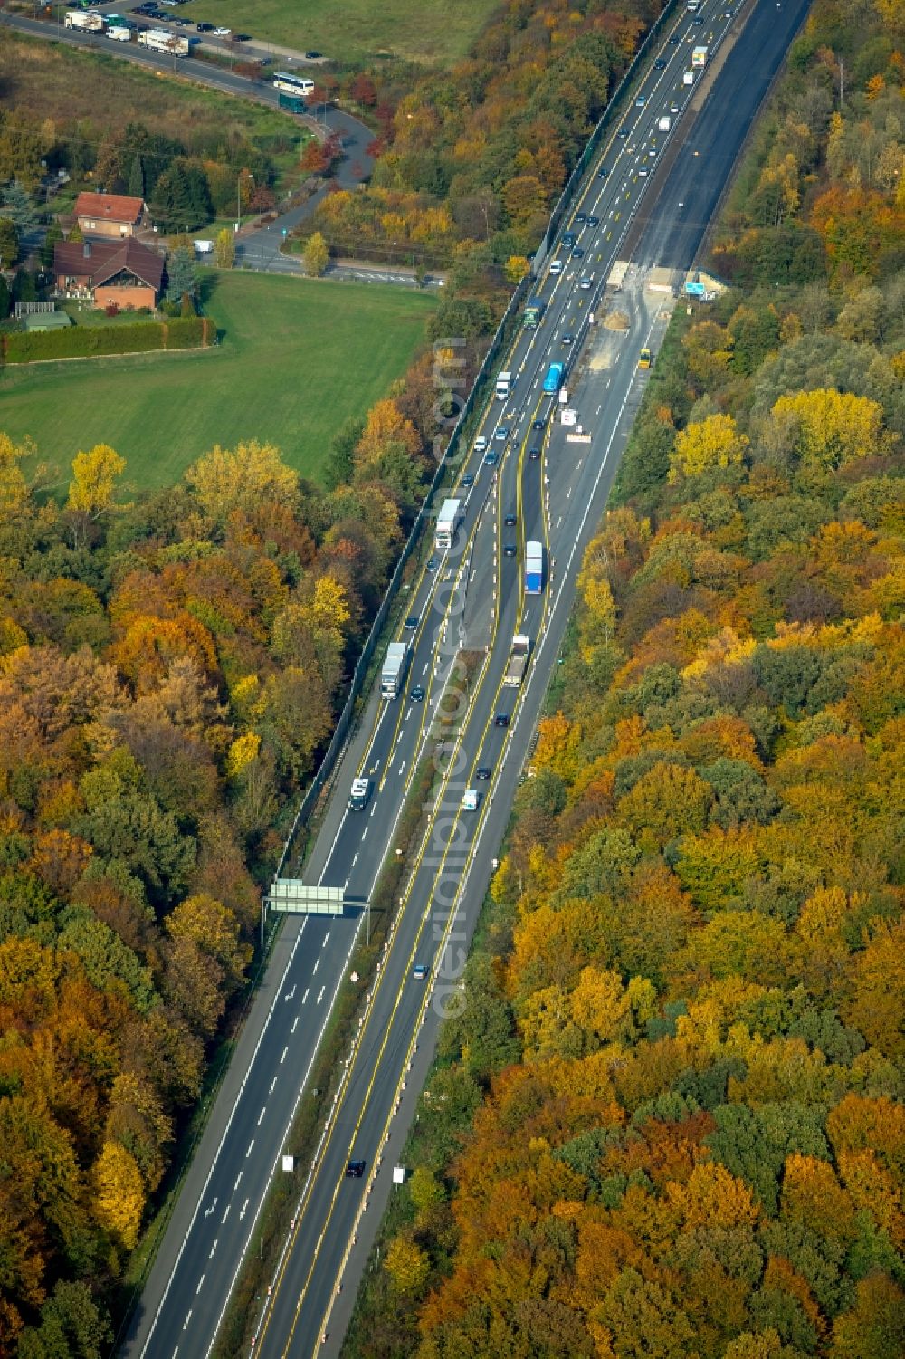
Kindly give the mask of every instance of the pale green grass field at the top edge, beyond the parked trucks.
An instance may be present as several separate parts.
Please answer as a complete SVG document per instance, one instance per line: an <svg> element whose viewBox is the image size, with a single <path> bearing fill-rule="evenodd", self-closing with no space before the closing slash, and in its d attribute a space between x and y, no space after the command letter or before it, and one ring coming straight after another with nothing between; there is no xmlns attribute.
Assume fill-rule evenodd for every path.
<svg viewBox="0 0 905 1359"><path fill-rule="evenodd" d="M496 0L198 0L192 19L342 63L393 53L446 65L465 56L496 8Z"/></svg>

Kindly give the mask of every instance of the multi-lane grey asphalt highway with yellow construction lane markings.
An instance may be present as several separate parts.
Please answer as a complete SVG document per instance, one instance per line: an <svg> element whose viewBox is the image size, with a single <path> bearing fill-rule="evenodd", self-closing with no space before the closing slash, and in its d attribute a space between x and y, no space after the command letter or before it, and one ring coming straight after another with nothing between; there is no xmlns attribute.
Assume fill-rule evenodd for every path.
<svg viewBox="0 0 905 1359"><path fill-rule="evenodd" d="M708 222L704 207L716 201L723 181L713 177L709 200L698 186L711 178L709 164L724 178L804 12L804 0L781 8L760 0L742 23L708 0L696 16L703 23L681 14L663 37L654 53L663 68L648 69L639 88L643 106L632 103L614 126L576 204L584 220L573 216L568 227L578 249L552 255L561 270L538 281L541 323L519 333L504 364L515 375L511 397L492 401L485 413L480 434L499 462L486 465L482 450L470 454L461 474L474 481L461 489L457 544L412 583L397 633L412 647L406 690L395 701L371 697L340 768L307 882L368 898L383 859L395 852L414 773L435 750L436 705L447 685L461 690L459 716L438 760L436 798L425 809L425 830L337 1095L311 1162L294 1170L295 1223L253 1318L254 1355L340 1351L438 1022L461 998L467 940L556 665L582 550L603 512L643 394L639 349L656 351L681 283L675 275L664 283L656 270L670 261L693 262ZM689 91L684 72L692 45L713 49L730 30L734 45L722 69L717 56ZM724 88L735 101L732 117ZM658 122L671 105L679 113L664 136ZM712 159L694 156L696 147L711 147ZM682 215L679 202L694 211ZM583 276L591 277L587 288ZM584 442L575 438L578 427L556 420L560 404L542 393L552 360L568 366L568 405ZM523 588L527 540L545 545L541 595ZM501 684L515 632L527 632L534 644L520 689ZM459 648L480 654L467 685ZM412 697L416 685L425 690L421 701ZM497 724L497 715L508 724ZM478 768L489 768L491 777L478 780ZM361 811L348 803L356 775L372 781ZM472 813L461 807L466 788L481 794ZM257 1249L266 1190L284 1174L280 1155L364 921L363 911L349 909L334 919L285 920L136 1309L124 1347L130 1359L211 1352L242 1260ZM414 977L416 965L427 969L424 980ZM351 1159L366 1162L360 1180L345 1177Z"/></svg>

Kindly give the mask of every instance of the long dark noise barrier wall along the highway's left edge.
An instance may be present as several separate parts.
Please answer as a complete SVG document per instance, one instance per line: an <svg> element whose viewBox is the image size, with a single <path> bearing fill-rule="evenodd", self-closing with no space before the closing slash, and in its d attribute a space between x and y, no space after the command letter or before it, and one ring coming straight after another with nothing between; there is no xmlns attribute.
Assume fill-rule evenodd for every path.
<svg viewBox="0 0 905 1359"><path fill-rule="evenodd" d="M295 837L296 837L296 834L299 832L299 828L304 824L304 821L307 819L307 817L311 814L311 811L314 809L314 805L317 803L317 799L321 795L321 791L322 791L323 786L326 784L327 779L333 773L333 768L336 765L336 761L337 761L337 758L338 758L338 756L340 756L340 753L341 753L341 750L342 750L342 747L345 745L347 737L349 734L349 728L352 727L352 722L353 722L353 718L355 718L356 703L357 703L357 699L359 699L359 696L360 696L360 693L363 690L364 680L366 680L366 675L368 673L368 667L371 665L374 654L378 650L378 646L379 646L379 641L380 641L380 633L383 632L383 626L386 624L386 618L387 618L387 614L390 612L390 606L393 605L393 602L394 602L394 599L395 599L395 597L397 597L397 594L400 591L400 586L402 584L402 573L405 571L405 564L409 560L409 557L412 556L412 553L414 552L414 549L416 549L416 546L419 544L419 540L420 540L420 537L421 537L421 534L424 531L425 525L428 523L429 519L433 518L433 514L432 514L432 510L431 510L433 499L435 499L436 492L439 491L439 488L443 485L443 481L446 478L446 474L447 474L448 469L457 461L457 455L458 455L458 451L459 451L459 443L462 440L465 425L466 425L469 417L472 416L476 405L478 405L478 402L484 400L486 385L491 381L491 374L492 374L493 368L499 363L500 353L507 347L510 325L514 321L516 311L522 306L522 302L525 300L527 292L530 291L531 284L533 284L534 279L537 277L538 269L542 265L546 254L550 250L552 242L556 239L556 235L557 235L558 228L561 226L563 217L565 216L565 213L567 213L567 211L569 208L569 204L572 202L572 198L576 194L578 186L582 183L582 181L583 181L586 173L587 173L587 167L588 167L590 162L594 159L594 155L597 154L597 151L599 148L601 140L603 139L603 133L606 132L607 126L610 125L610 122L613 121L613 118L617 116L617 113L621 111L622 96L624 96L625 91L629 88L629 86L632 84L632 82L635 80L635 77L637 75L639 64L641 63L641 60L647 54L651 43L656 42L659 39L660 33L662 33L662 30L663 30L663 27L664 27L664 24L667 22L667 19L671 19L673 14L675 12L675 10L682 8L682 4L684 4L684 0L669 0L669 4L663 8L663 11L660 12L659 18L655 20L655 23L651 26L650 31L647 33L644 41L641 42L641 46L637 49L635 57L632 58L632 63L631 63L628 71L625 72L625 75L620 80L618 86L613 91L613 95L611 95L611 98L610 98L606 109L601 114L601 118L598 120L598 124L594 128L594 132L588 137L587 144L586 144L582 155L579 156L579 159L578 159L578 162L575 164L575 169L572 170L572 174L569 175L569 178L567 181L567 185L563 189L563 193L560 194L560 197L558 197L558 200L556 202L556 207L553 208L553 212L550 213L549 226L546 228L546 232L544 234L544 239L542 239L541 245L538 246L538 249L537 249L537 251L534 254L531 273L526 275L525 279L520 280L520 283L518 284L515 292L510 298L510 303L508 303L505 311L503 313L500 323L497 325L497 328L496 328L496 330L493 333L493 337L491 340L489 348L488 348L488 351L486 351L486 353L484 356L484 361L482 361L482 364L481 364L481 367L480 367L480 370L477 372L477 376L476 376L476 379L474 379L474 382L472 385L472 390L469 391L467 397L465 398L465 402L462 404L462 409L461 409L459 416L458 416L458 419L455 421L455 427L452 428L452 434L450 435L450 442L447 443L447 446L446 446L446 448L443 451L443 455L442 455L442 458L438 462L438 469L436 469L436 472L433 474L433 480L431 481L431 485L429 485L429 488L427 491L427 495L424 497L421 508L419 510L419 512L416 515L416 519L414 519L414 523L412 525L412 530L409 533L409 537L405 541L402 552L400 553L400 557L397 560L395 568L394 568L393 575L390 578L390 583L386 587L386 593L383 595L383 599L380 601L380 607L378 609L378 612L376 612L376 614L374 617L374 622L371 624L371 628L370 628L368 635L366 637L364 646L361 647L361 654L360 654L360 656L357 659L357 663L355 666L355 671L352 674L352 681L349 684L349 692L348 692L347 700L345 700L345 703L342 705L342 711L341 711L341 713L340 713L340 716L337 719L336 728L334 728L333 737L330 739L330 745L326 747L326 750L323 753L323 758L321 760L321 764L318 766L318 772L315 773L314 779L311 780L311 784L308 786L304 796L302 798L302 802L299 805L299 810L296 811L295 819L292 821L292 828L289 829L289 833L288 833L288 836L285 839L285 844L283 845L283 853L280 855L280 862L279 862L279 864L276 867L276 872L273 875L274 878L280 877L280 872L283 871L283 866L284 866L285 860L289 858L289 853L291 853L291 849L292 849L292 843L294 843L294 840L295 840ZM466 453L467 453L467 450L466 450Z"/></svg>

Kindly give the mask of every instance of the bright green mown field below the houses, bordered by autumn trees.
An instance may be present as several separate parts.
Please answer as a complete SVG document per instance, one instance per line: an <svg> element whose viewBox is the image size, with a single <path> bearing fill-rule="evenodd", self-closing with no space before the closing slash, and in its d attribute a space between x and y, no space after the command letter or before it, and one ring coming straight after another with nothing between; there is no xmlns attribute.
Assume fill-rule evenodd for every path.
<svg viewBox="0 0 905 1359"><path fill-rule="evenodd" d="M109 443L136 489L175 482L215 443L276 443L318 480L333 432L408 367L433 310L401 287L208 275L213 349L11 367L0 429L30 435L65 484L79 448ZM205 280L205 281L207 281Z"/></svg>

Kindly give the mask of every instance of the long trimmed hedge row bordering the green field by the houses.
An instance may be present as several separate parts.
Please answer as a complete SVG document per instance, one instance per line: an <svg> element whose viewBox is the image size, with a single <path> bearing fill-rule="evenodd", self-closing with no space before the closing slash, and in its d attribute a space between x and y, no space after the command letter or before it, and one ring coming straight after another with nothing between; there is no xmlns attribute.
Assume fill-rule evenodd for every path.
<svg viewBox="0 0 905 1359"><path fill-rule="evenodd" d="M136 321L120 326L26 330L0 336L0 344L4 363L34 363L38 359L207 348L215 338L216 326L209 317L177 317L173 321Z"/></svg>

